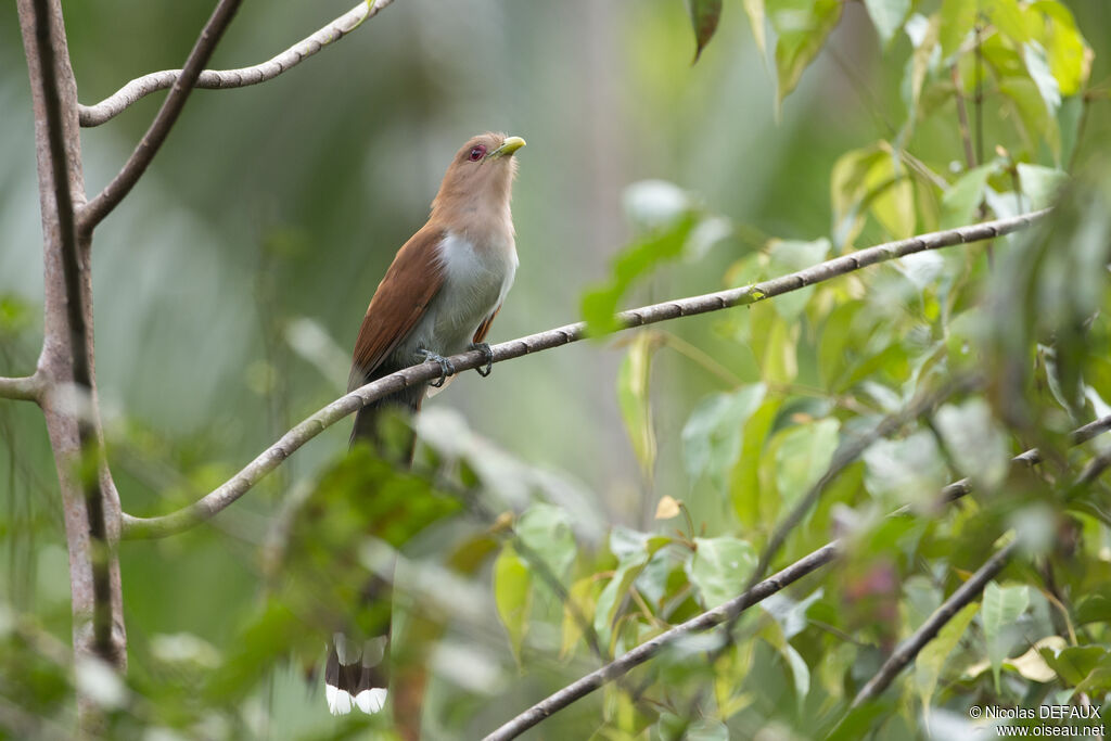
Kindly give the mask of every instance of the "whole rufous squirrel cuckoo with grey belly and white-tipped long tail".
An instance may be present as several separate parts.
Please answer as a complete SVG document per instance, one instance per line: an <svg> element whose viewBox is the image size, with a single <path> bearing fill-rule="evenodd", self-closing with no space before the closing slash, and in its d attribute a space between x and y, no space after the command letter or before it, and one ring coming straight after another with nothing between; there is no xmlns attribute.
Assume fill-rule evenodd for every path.
<svg viewBox="0 0 1111 741"><path fill-rule="evenodd" d="M378 284L354 343L348 379L353 391L426 360L440 364L442 387L454 373L447 356L481 349L517 272L513 220L509 210L520 137L483 133L456 153L432 201L426 223L406 242ZM490 372L490 363L481 375ZM377 443L378 418L387 408L414 413L427 389L406 389L356 414L351 443ZM411 451L410 451L411 458ZM378 584L378 598L388 585ZM388 599L388 597L387 597ZM389 624L362 648L336 635L324 669L328 708L333 714L359 708L374 713L387 698ZM353 649L353 650L352 650Z"/></svg>

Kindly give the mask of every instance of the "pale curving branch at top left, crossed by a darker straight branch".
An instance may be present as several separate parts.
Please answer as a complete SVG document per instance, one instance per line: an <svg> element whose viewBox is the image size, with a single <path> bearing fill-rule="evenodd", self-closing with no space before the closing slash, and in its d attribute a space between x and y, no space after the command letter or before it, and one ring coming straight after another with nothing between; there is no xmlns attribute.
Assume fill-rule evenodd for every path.
<svg viewBox="0 0 1111 741"><path fill-rule="evenodd" d="M351 31L359 28L363 21L378 14L380 10L393 0L366 0L347 11L312 36L294 43L286 51L264 62L252 67L241 67L233 70L204 70L197 78L193 88L222 90L224 88L246 88L272 80L282 72L297 67L318 51L339 41ZM106 123L132 104L159 90L166 90L181 78L183 70L162 70L151 72L131 80L126 86L100 101L96 106L80 106L78 111L82 127L94 127Z"/></svg>

